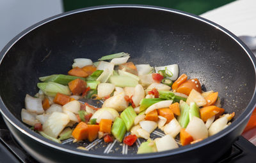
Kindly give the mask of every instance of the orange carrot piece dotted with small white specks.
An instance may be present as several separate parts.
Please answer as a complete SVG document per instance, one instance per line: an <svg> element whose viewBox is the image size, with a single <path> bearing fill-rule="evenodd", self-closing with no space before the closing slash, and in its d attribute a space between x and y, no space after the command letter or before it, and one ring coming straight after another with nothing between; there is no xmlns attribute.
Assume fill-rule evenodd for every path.
<svg viewBox="0 0 256 163"><path fill-rule="evenodd" d="M182 83L178 89L177 92L180 92L182 94L186 94L189 96L192 89L195 89L197 92L202 92L201 90L201 84L198 79L190 79L184 83Z"/></svg>

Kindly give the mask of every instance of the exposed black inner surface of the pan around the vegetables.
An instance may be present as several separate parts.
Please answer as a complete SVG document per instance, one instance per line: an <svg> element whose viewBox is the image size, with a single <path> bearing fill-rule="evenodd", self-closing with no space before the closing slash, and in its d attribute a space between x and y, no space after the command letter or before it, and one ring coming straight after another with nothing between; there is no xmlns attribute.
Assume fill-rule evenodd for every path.
<svg viewBox="0 0 256 163"><path fill-rule="evenodd" d="M96 61L116 52L130 53L135 64L179 64L180 74L198 78L204 90L219 92L223 108L236 112L235 120L252 99L253 64L234 39L200 20L147 8L74 13L29 32L1 62L1 98L20 120L26 94L38 92L38 77L67 74L76 58ZM120 155L122 149L116 143L109 154Z"/></svg>

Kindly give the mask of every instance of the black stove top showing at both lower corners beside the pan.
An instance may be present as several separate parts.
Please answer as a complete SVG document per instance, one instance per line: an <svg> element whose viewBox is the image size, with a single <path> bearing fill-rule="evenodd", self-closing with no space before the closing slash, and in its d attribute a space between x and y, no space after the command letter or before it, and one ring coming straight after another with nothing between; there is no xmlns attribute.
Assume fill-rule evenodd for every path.
<svg viewBox="0 0 256 163"><path fill-rule="evenodd" d="M2 117L0 117L0 162L38 162L15 141ZM256 162L256 146L243 136L239 136L230 150L224 153L217 162Z"/></svg>

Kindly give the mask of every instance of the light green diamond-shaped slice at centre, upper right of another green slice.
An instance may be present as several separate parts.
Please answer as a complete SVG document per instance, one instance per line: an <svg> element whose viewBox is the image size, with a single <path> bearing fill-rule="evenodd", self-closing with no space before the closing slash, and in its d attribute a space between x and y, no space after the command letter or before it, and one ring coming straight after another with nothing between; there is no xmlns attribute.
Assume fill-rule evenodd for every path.
<svg viewBox="0 0 256 163"><path fill-rule="evenodd" d="M136 116L137 115L133 110L132 106L129 106L121 113L120 117L124 121L127 131L131 129L132 125L134 124L134 119Z"/></svg>

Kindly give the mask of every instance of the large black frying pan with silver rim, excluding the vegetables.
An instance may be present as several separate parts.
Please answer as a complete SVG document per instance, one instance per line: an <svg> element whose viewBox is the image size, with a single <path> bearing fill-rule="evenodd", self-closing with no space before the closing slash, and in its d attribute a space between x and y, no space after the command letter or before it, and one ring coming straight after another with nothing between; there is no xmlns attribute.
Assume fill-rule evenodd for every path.
<svg viewBox="0 0 256 163"><path fill-rule="evenodd" d="M232 124L194 145L136 155L136 145L54 143L21 122L24 97L38 92L38 77L66 74L75 58L96 61L116 52L130 53L136 64L179 64L180 74L219 92L226 112L236 112ZM21 32L1 56L1 113L15 139L40 162L214 162L236 141L255 108L255 57L248 47L220 25L169 8L114 5L70 11Z"/></svg>

